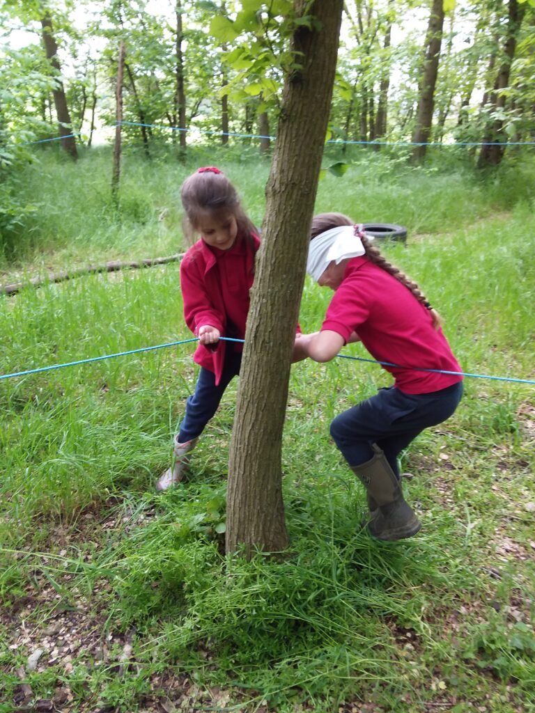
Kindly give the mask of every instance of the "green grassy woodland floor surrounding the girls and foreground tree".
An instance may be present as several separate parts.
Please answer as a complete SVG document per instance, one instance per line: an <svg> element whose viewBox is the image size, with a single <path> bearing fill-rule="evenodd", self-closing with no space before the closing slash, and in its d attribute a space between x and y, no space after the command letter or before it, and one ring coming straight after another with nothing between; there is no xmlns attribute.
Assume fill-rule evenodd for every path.
<svg viewBox="0 0 535 713"><path fill-rule="evenodd" d="M128 202L113 212L105 151L78 166L44 156L25 184L30 195L39 172L49 177L39 222L4 264L6 281L176 252L180 181L214 163L200 158L127 157ZM260 222L267 165L241 158L217 163ZM317 209L406 225L407 247L384 252L437 305L463 368L534 379L531 165L483 182L354 159L322 182ZM304 330L328 299L307 282ZM177 264L0 297L4 374L189 336ZM379 543L357 525L364 492L328 424L389 377L360 361L296 364L283 443L291 556L245 563L221 553L236 383L189 481L153 491L195 385L192 351L0 381L0 712L38 699L73 712L533 712L533 386L466 380L457 414L404 454L422 533ZM360 345L345 353L367 356Z"/></svg>

